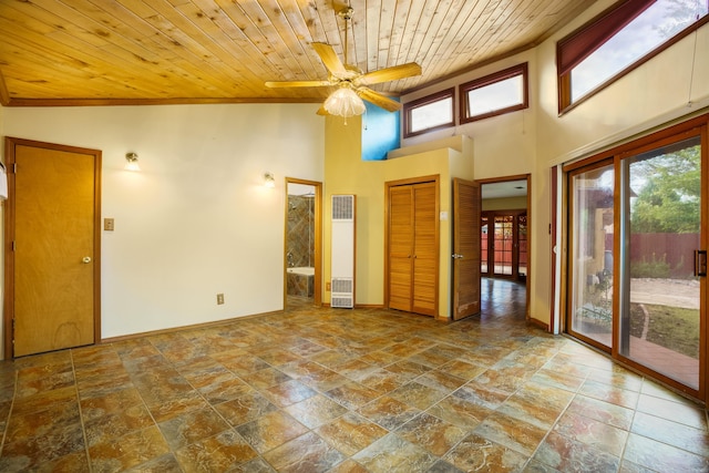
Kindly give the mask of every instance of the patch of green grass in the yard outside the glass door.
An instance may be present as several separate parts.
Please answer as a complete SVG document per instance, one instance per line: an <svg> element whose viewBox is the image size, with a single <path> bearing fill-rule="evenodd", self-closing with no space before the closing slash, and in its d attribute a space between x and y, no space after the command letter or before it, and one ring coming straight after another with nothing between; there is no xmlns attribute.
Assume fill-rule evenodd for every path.
<svg viewBox="0 0 709 473"><path fill-rule="evenodd" d="M647 341L699 358L699 316L697 310L645 304L650 316ZM630 305L630 335L640 337L645 316L637 304Z"/></svg>

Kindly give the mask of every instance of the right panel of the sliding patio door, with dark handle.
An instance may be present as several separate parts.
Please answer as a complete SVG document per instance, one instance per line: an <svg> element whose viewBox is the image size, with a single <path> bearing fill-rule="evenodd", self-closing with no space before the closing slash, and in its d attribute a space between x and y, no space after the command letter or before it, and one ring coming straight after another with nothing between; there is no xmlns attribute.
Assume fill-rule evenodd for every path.
<svg viewBox="0 0 709 473"><path fill-rule="evenodd" d="M621 164L620 354L698 389L700 136L631 153Z"/></svg>

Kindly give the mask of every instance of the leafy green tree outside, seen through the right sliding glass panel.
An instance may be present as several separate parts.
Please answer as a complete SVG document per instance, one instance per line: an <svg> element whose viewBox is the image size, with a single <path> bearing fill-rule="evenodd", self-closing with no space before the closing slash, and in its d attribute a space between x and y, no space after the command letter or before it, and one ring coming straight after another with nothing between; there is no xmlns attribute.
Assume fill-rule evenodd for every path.
<svg viewBox="0 0 709 473"><path fill-rule="evenodd" d="M698 232L701 196L698 144L640 156L630 164L630 175L640 185L631 204L633 233Z"/></svg>

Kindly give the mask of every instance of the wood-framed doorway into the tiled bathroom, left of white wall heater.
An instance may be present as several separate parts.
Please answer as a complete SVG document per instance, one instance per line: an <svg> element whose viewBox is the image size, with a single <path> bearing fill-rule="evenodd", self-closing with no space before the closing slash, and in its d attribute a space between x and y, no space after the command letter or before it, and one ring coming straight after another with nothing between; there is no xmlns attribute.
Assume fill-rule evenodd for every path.
<svg viewBox="0 0 709 473"><path fill-rule="evenodd" d="M322 183L286 178L284 308L320 306Z"/></svg>

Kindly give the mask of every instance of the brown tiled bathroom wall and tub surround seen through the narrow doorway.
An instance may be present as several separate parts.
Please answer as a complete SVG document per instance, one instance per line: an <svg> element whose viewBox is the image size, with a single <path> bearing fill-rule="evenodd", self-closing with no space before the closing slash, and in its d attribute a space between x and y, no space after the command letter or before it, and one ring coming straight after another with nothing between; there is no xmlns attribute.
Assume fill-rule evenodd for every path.
<svg viewBox="0 0 709 473"><path fill-rule="evenodd" d="M315 259L315 197L288 196L287 263L291 268L312 267ZM312 297L314 276L288 274L289 296Z"/></svg>

